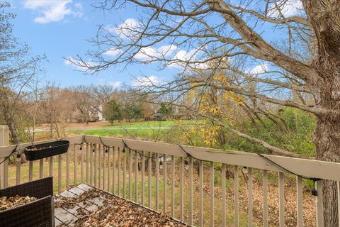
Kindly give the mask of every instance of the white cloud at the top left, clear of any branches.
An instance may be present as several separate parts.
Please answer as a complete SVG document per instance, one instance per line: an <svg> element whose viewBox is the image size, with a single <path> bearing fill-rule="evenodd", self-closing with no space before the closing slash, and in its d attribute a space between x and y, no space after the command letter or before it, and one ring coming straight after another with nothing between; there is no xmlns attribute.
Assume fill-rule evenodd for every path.
<svg viewBox="0 0 340 227"><path fill-rule="evenodd" d="M36 23L50 23L64 20L65 16L83 16L83 6L80 3L70 5L72 0L26 0L23 6L36 11L39 16L34 18Z"/></svg>

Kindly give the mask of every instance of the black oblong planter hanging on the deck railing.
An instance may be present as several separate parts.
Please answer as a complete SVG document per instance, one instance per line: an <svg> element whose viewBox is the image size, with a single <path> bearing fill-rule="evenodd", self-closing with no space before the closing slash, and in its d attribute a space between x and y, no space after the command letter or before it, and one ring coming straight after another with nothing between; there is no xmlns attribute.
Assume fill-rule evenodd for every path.
<svg viewBox="0 0 340 227"><path fill-rule="evenodd" d="M38 145L30 145L23 150L26 160L34 161L44 157L51 157L66 153L69 149L69 141L59 140L50 143L40 143Z"/></svg>

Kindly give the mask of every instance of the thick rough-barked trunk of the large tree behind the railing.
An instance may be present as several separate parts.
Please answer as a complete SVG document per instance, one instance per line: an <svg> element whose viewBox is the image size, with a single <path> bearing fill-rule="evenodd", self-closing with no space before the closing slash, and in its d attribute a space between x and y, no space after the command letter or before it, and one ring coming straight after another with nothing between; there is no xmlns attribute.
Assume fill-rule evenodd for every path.
<svg viewBox="0 0 340 227"><path fill-rule="evenodd" d="M317 116L314 132L317 159L340 162L340 1L302 0L317 44L317 59L312 62L318 76L307 84L317 106L329 114ZM336 182L324 180L324 226L339 226Z"/></svg>

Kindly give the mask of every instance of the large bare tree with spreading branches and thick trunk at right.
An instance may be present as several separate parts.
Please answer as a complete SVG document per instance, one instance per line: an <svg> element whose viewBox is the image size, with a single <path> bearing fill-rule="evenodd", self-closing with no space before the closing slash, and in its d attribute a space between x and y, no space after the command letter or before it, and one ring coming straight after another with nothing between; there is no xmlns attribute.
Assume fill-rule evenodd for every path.
<svg viewBox="0 0 340 227"><path fill-rule="evenodd" d="M96 64L81 57L73 62L86 67L88 72L122 63L159 62L161 67L181 68L181 74L171 82L154 86L154 91L183 95L193 87L201 87L204 92L208 86L261 103L310 112L317 118L314 132L317 159L340 162L340 1L301 0L301 9L295 14L287 13L287 7L292 9L293 4L296 9L300 1L233 2L103 1L98 7L106 10L125 4L140 7L143 17L116 26L114 33L101 26L93 40L98 50L89 51ZM285 50L276 43L285 43ZM301 55L300 49L309 50L309 54ZM108 58L108 52L115 57ZM261 72L234 67L233 61L239 56L247 56L249 67L259 62ZM217 64L208 64L211 61ZM195 77L198 69L208 72L204 79ZM227 70L232 75L229 84L214 83L211 78L218 70ZM195 86L190 86L189 77L197 78ZM291 99L288 93L300 97L309 94L312 99L308 102ZM215 120L273 152L290 154ZM324 181L323 185L324 225L338 226L336 182Z"/></svg>

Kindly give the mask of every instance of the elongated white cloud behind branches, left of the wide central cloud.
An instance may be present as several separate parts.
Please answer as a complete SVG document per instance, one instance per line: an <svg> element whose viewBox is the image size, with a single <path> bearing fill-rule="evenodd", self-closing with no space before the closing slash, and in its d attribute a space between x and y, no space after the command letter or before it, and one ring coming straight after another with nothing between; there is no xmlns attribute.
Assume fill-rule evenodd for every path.
<svg viewBox="0 0 340 227"><path fill-rule="evenodd" d="M171 55L175 50L177 50L176 45L162 45L159 48L146 47L137 52L135 59L140 61L162 59L162 57Z"/></svg>

